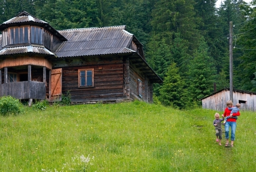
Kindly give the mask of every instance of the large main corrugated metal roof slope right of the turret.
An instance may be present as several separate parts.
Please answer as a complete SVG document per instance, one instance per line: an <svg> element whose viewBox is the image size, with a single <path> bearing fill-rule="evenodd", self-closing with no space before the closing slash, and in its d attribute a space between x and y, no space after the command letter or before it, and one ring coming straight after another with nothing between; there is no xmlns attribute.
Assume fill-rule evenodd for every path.
<svg viewBox="0 0 256 172"><path fill-rule="evenodd" d="M124 31L125 28L122 25L59 31L68 41L61 43L55 54L58 57L77 57L132 53L134 51L127 47L132 41L133 35Z"/></svg>

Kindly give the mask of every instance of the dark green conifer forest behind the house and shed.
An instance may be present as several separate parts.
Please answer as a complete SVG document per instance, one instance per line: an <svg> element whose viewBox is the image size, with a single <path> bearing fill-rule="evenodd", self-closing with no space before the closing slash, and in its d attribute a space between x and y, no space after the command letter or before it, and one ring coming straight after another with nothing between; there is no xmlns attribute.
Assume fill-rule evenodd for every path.
<svg viewBox="0 0 256 172"><path fill-rule="evenodd" d="M178 109L229 87L233 23L233 88L256 92L256 0L0 0L0 22L23 10L56 30L126 25L163 80L154 102Z"/></svg>

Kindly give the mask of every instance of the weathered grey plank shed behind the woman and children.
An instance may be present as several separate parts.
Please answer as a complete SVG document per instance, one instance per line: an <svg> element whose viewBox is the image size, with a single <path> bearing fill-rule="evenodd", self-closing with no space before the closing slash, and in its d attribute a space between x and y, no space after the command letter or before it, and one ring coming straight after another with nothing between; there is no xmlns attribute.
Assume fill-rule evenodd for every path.
<svg viewBox="0 0 256 172"><path fill-rule="evenodd" d="M230 100L230 88L223 88L201 99L204 109L222 111ZM256 111L256 92L233 89L233 104L241 104L242 110Z"/></svg>

